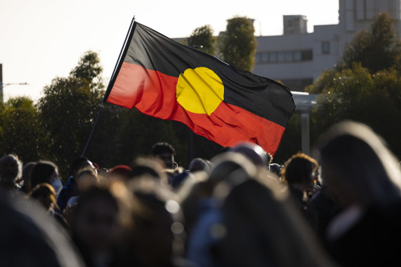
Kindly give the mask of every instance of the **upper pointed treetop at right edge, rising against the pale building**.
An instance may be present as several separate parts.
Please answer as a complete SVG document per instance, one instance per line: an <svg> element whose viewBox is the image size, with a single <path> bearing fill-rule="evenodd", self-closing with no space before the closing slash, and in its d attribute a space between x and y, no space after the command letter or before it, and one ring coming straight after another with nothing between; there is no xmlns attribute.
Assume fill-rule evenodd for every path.
<svg viewBox="0 0 401 267"><path fill-rule="evenodd" d="M372 74L389 67L401 70L401 42L387 12L376 14L369 31L362 30L345 46L340 68L362 63Z"/></svg>

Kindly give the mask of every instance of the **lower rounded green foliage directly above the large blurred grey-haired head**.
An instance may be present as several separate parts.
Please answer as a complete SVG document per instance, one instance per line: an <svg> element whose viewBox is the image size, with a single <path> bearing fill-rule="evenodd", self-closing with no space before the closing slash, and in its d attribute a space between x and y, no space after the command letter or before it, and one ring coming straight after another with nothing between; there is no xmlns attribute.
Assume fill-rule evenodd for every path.
<svg viewBox="0 0 401 267"><path fill-rule="evenodd" d="M331 86L323 89L320 106L311 114L312 138L340 120L363 122L380 134L392 151L401 155L401 80L394 68L376 74L353 63L337 72Z"/></svg>

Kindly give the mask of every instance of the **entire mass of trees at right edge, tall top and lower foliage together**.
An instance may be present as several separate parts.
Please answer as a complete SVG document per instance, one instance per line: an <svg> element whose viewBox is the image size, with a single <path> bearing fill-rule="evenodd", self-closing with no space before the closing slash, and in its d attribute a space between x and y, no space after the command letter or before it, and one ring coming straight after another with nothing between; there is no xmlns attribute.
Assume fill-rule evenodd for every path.
<svg viewBox="0 0 401 267"><path fill-rule="evenodd" d="M320 94L311 114L311 140L340 120L363 122L401 156L400 39L387 13L377 14L369 31L346 45L341 64L306 88Z"/></svg>

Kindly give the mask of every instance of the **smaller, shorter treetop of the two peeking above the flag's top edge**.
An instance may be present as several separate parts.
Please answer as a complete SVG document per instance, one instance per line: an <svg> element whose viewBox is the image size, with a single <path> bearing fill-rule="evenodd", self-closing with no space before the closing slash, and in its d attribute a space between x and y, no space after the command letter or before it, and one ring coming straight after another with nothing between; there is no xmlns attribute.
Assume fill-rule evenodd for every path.
<svg viewBox="0 0 401 267"><path fill-rule="evenodd" d="M210 25L196 28L192 34L187 37L187 45L197 50L203 51L212 56L216 56L215 37Z"/></svg>

